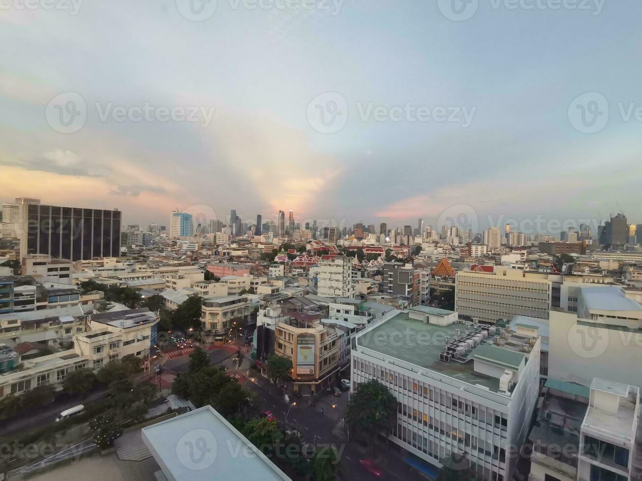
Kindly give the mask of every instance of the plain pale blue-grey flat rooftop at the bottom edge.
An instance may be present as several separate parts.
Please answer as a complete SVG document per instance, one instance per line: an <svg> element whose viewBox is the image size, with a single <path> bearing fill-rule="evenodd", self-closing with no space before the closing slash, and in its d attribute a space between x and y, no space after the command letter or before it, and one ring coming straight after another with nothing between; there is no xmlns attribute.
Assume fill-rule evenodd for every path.
<svg viewBox="0 0 642 481"><path fill-rule="evenodd" d="M209 405L141 434L169 480L290 480Z"/></svg>

